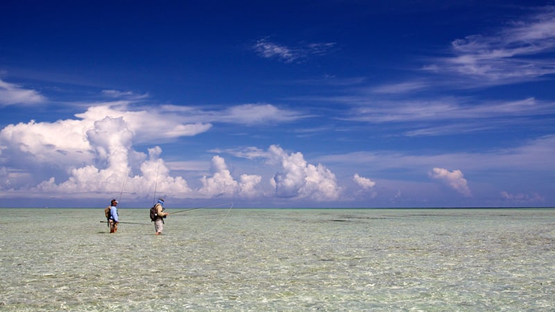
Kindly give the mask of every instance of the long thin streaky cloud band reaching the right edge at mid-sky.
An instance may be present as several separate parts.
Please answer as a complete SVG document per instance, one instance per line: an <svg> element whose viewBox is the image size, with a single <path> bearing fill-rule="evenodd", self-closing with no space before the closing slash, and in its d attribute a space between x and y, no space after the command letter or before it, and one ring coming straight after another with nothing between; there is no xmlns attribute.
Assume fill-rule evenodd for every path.
<svg viewBox="0 0 555 312"><path fill-rule="evenodd" d="M345 120L368 123L400 123L408 137L484 132L536 123L534 116L555 113L555 105L536 98L516 101L475 101L472 98L443 98L434 101L379 101L356 106Z"/></svg>

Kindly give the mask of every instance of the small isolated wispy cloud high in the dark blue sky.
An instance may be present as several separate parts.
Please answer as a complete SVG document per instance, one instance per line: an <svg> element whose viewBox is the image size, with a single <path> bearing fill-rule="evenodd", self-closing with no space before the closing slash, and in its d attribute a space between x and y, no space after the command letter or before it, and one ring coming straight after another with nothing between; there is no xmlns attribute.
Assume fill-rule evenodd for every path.
<svg viewBox="0 0 555 312"><path fill-rule="evenodd" d="M325 55L334 46L334 42L301 43L296 46L286 46L261 39L253 45L253 49L262 58L275 58L282 62L291 63L307 58L308 55Z"/></svg>

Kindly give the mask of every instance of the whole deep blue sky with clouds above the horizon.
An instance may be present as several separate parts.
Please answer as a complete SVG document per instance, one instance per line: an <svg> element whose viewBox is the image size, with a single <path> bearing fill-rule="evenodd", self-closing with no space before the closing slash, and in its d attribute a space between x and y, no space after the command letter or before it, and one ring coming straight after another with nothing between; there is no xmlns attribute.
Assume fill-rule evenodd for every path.
<svg viewBox="0 0 555 312"><path fill-rule="evenodd" d="M555 1L0 3L0 207L554 207L554 156Z"/></svg>

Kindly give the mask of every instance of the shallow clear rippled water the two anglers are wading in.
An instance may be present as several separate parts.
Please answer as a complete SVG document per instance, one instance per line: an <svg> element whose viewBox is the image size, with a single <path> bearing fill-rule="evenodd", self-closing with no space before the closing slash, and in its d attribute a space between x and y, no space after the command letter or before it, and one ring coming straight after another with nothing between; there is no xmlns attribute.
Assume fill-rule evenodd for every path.
<svg viewBox="0 0 555 312"><path fill-rule="evenodd" d="M555 309L555 209L199 209L162 236L148 209L116 234L103 208L0 216L3 311Z"/></svg>

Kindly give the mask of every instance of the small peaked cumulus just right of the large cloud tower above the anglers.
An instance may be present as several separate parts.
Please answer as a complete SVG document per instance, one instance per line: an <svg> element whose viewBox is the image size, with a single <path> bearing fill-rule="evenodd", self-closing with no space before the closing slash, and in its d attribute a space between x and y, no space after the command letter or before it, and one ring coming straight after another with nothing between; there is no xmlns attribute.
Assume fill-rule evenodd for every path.
<svg viewBox="0 0 555 312"><path fill-rule="evenodd" d="M253 197L257 195L255 187L262 180L259 175L241 175L240 182L232 177L225 159L218 155L212 157L211 177L206 175L202 177L203 187L199 189L199 193L207 197L212 196L246 196Z"/></svg>

